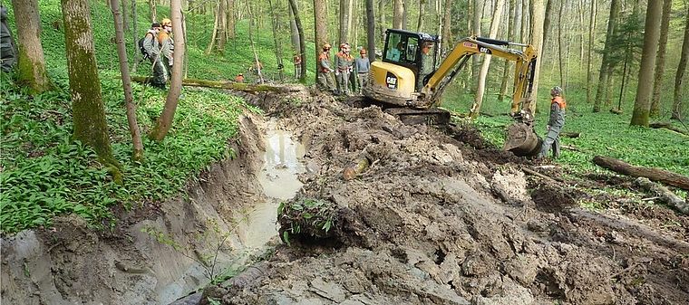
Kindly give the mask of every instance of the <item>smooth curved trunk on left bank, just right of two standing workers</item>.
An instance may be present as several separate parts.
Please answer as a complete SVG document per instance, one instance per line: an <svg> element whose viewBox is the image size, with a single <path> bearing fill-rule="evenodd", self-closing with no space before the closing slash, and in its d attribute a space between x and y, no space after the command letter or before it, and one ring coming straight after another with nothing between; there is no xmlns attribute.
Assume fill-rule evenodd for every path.
<svg viewBox="0 0 689 305"><path fill-rule="evenodd" d="M63 0L69 1L69 0ZM172 55L172 78L170 79L170 91L168 91L168 98L165 100L165 106L162 109L160 118L156 121L156 126L150 130L149 138L160 141L168 134L168 130L172 126L172 119L175 118L175 111L180 102L180 93L182 89L182 66L184 65L184 52L186 45L184 43L184 34L182 33L182 11L180 0L171 0L170 2L170 19L172 20L172 33L175 42L175 52ZM181 34L180 34L181 33Z"/></svg>

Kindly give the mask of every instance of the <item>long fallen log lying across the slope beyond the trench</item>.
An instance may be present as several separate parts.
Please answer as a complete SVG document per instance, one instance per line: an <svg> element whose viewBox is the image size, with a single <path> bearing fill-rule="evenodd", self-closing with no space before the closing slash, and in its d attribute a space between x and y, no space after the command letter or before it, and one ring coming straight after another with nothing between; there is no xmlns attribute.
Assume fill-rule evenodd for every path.
<svg viewBox="0 0 689 305"><path fill-rule="evenodd" d="M121 80L120 76L115 77L115 79ZM131 81L136 81L140 83L150 83L153 78L146 76L132 76ZM236 91L273 91L279 93L296 92L296 91L306 91L306 88L301 85L269 85L269 84L253 84L253 83L242 83L235 81L208 81L208 80L196 80L196 79L184 79L182 80L182 86L189 87L205 87L205 88L215 88L215 89L225 89L225 90L236 90Z"/></svg>

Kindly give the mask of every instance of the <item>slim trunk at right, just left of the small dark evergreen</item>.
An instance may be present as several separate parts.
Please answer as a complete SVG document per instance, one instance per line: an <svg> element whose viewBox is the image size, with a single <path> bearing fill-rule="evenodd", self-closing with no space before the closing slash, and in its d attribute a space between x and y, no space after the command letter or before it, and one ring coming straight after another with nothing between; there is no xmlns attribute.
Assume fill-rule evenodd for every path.
<svg viewBox="0 0 689 305"><path fill-rule="evenodd" d="M612 38L617 31L619 11L619 0L612 0L610 2L610 15L607 18L606 44L603 46L603 59L600 62L598 87L596 91L596 100L593 102L593 112L600 112L601 103L606 99L606 91L610 88L610 74L612 73L610 67L610 53L613 52Z"/></svg>

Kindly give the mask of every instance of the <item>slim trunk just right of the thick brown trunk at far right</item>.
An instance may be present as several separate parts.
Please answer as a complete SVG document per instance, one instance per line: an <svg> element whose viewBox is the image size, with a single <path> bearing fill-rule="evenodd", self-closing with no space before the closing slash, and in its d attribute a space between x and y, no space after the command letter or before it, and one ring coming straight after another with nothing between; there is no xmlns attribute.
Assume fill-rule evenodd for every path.
<svg viewBox="0 0 689 305"><path fill-rule="evenodd" d="M660 21L660 38L658 40L658 55L655 58L655 75L653 78L653 95L651 110L648 115L657 118L660 115L660 95L663 90L663 74L665 72L665 52L667 50L667 31L670 28L670 14L672 14L673 0L663 0L663 17Z"/></svg>

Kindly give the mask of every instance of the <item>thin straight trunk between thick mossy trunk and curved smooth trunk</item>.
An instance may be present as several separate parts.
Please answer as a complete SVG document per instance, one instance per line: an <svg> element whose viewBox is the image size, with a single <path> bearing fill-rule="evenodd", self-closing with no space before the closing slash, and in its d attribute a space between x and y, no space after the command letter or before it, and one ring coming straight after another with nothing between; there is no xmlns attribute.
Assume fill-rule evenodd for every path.
<svg viewBox="0 0 689 305"><path fill-rule="evenodd" d="M122 74L122 87L124 88L124 100L125 104L127 105L127 123L129 123L131 143L133 144L131 160L135 162L143 162L143 142L141 141L139 123L136 119L136 104L134 103L134 95L131 93L131 80L129 66L127 64L127 46L124 44L124 30L122 28L123 21L121 18L122 14L119 9L120 0L110 1L112 7L112 17L115 21L115 40L117 43L117 55L120 58L120 71Z"/></svg>

